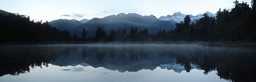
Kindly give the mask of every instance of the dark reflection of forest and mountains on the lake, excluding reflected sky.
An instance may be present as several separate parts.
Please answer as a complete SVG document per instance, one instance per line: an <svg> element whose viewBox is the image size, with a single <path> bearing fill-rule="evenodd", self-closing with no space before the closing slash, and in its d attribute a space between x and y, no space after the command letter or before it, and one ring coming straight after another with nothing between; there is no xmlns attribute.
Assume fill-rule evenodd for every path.
<svg viewBox="0 0 256 82"><path fill-rule="evenodd" d="M27 45L0 46L0 76L19 75L31 68L55 66L103 67L119 72L161 69L190 72L217 71L221 79L255 81L252 48L206 47L199 45ZM83 71L84 68L61 71ZM107 74L107 73L105 73Z"/></svg>

